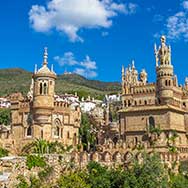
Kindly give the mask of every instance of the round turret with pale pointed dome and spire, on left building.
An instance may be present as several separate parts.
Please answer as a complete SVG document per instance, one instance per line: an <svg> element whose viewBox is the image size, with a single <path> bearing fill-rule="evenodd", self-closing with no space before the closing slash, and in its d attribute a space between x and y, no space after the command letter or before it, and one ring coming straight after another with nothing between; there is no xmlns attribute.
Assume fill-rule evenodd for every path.
<svg viewBox="0 0 188 188"><path fill-rule="evenodd" d="M56 74L48 68L47 48L44 50L43 66L33 74L33 120L34 137L50 139Z"/></svg>

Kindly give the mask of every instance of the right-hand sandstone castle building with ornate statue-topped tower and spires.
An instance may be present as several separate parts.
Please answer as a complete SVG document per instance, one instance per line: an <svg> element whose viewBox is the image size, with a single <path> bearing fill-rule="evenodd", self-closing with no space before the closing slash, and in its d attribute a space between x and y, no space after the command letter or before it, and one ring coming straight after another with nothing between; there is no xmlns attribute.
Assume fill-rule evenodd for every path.
<svg viewBox="0 0 188 188"><path fill-rule="evenodd" d="M177 147L182 157L188 152L188 78L184 86L178 85L171 63L171 47L165 36L161 45L154 46L156 60L156 83L148 83L147 73L140 74L134 62L127 69L122 67L122 109L119 134L127 145L137 145L155 140L159 151ZM172 143L172 138L176 139Z"/></svg>

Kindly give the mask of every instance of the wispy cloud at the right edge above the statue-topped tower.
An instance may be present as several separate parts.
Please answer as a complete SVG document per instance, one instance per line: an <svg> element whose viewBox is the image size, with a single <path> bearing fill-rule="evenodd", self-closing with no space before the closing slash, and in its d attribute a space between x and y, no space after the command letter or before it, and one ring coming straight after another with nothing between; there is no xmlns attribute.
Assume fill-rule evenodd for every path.
<svg viewBox="0 0 188 188"><path fill-rule="evenodd" d="M188 1L182 2L181 11L168 17L166 31L170 39L183 38L188 41Z"/></svg>

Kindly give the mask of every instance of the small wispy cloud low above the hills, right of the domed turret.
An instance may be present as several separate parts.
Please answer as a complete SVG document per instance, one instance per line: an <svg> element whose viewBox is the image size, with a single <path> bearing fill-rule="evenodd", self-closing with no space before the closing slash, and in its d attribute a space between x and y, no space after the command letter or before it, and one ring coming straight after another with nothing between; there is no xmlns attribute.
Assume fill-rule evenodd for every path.
<svg viewBox="0 0 188 188"><path fill-rule="evenodd" d="M94 78L97 76L97 64L95 61L92 61L88 55L86 55L84 60L78 61L72 52L66 52L63 57L55 56L54 60L58 62L60 66L73 67L74 73L84 77Z"/></svg>

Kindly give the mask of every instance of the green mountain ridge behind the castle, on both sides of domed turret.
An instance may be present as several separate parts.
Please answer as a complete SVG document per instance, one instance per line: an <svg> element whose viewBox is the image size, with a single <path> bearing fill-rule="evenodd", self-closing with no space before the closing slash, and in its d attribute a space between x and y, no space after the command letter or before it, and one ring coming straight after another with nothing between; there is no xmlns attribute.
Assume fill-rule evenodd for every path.
<svg viewBox="0 0 188 188"><path fill-rule="evenodd" d="M0 96L13 92L28 92L32 73L20 68L0 70ZM91 95L101 98L105 94L118 93L121 85L118 82L102 82L88 80L77 74L58 75L56 81L56 93L75 93L79 96Z"/></svg>

